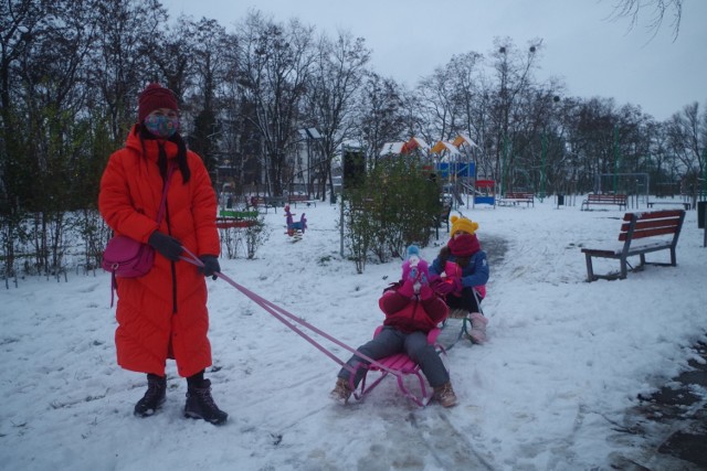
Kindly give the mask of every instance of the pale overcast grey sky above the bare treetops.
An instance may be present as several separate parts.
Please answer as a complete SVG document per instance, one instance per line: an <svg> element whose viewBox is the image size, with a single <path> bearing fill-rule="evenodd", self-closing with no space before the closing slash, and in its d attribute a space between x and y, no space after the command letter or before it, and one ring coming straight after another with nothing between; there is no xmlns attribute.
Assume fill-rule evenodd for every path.
<svg viewBox="0 0 707 471"><path fill-rule="evenodd" d="M707 106L707 0L684 0L679 35L672 17L653 39L652 10L629 31L610 20L618 0L162 0L172 18L213 18L228 31L249 9L276 21L298 18L334 36L348 30L366 39L372 68L412 86L471 51L486 56L494 38L519 47L540 38L539 78L558 76L570 96L613 97L658 120L685 105Z"/></svg>

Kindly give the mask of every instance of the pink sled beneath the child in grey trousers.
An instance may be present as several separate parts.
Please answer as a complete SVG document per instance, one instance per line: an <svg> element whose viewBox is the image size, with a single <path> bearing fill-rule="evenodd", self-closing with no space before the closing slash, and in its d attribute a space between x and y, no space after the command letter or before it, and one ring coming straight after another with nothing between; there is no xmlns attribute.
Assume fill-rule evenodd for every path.
<svg viewBox="0 0 707 471"><path fill-rule="evenodd" d="M382 329L382 325L378 327L373 336L378 335ZM440 329L432 329L428 333L428 343L434 345L437 353L446 355L444 347L436 343L439 335ZM380 382L383 381L383 378L390 373L398 378L398 387L405 397L408 397L420 407L424 407L428 405L428 403L432 398L432 393L430 392L430 394L428 394L426 382L422 374L422 371L420 370L420 365L413 362L410 356L408 356L405 353L395 353L394 355L386 356L384 358L378 360L377 363L384 366L386 370L377 366L376 364L360 366L362 368L366 368L366 373L363 374L363 378L361 379L359 387L354 392L354 397L356 397L356 399L361 400L363 396L373 390L373 388L378 386ZM367 385L366 378L369 372L380 372L380 376L374 382ZM420 383L420 395L413 394L405 386L404 378L408 375L414 375L418 377L418 382ZM351 379L354 376L351 376Z"/></svg>

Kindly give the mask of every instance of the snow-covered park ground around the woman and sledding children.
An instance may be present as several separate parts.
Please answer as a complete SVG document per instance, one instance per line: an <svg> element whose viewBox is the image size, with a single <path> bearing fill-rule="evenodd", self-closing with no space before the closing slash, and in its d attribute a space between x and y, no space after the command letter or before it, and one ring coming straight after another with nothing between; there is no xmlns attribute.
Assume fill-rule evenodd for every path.
<svg viewBox="0 0 707 471"><path fill-rule="evenodd" d="M186 382L172 363L165 407L136 418L146 382L115 364L107 274L2 288L0 468L589 470L610 469L616 457L645 462L640 439L618 425L639 394L684 371L697 358L690 345L707 340L707 248L689 211L677 267L588 283L580 248L616 244L623 211L580 212L580 201L461 210L479 223L482 244L505 239L507 251L490 267L483 303L489 342L449 352L460 398L451 409L418 408L392 379L362 403L333 403L335 362L223 280L209 280L214 366L207 376L228 424L182 417ZM339 255L338 206L293 211L307 214L300 242L284 234L282 210L271 210L258 258L222 259L223 272L356 347L381 322L377 300L400 261L357 275ZM422 255L431 260L445 237ZM666 261L668 253L648 259Z"/></svg>

